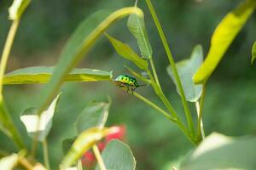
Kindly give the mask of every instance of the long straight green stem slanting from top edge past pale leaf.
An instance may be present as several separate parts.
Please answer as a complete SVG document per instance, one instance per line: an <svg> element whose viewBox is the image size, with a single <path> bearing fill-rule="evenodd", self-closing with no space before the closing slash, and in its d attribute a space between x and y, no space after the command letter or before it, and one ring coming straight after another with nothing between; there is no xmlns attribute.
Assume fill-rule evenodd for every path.
<svg viewBox="0 0 256 170"><path fill-rule="evenodd" d="M173 71L175 80L177 82L177 88L178 88L179 93L181 94L184 111L185 111L185 114L186 114L187 122L189 124L189 129L190 129L191 133L194 136L194 134L195 134L194 122L193 122L191 113L189 111L189 105L187 103L187 100L185 99L182 83L181 83L180 78L179 78L179 76L177 74L177 68L176 68L175 62L173 60L171 50L170 50L170 48L168 46L168 42L166 41L166 36L164 34L164 31L162 30L162 27L160 26L160 21L158 20L156 14L154 12L154 8L152 6L152 3L150 2L150 0L146 0L146 2L148 4L149 11L150 11L150 13L151 13L151 15L153 17L154 24L155 24L155 26L156 26L159 34L160 34L160 38L161 38L161 40L163 42L164 48L166 50L167 57L169 59L169 62L171 64L171 66L172 66L172 71Z"/></svg>

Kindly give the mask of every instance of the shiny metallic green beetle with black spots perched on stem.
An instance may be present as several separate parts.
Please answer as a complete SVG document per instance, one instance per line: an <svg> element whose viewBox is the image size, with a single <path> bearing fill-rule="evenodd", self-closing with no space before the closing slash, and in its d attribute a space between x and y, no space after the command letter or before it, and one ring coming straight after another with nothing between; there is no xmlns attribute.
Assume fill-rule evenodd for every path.
<svg viewBox="0 0 256 170"><path fill-rule="evenodd" d="M117 77L113 82L115 82L115 84L119 87L119 88L127 88L127 92L129 92L129 90L131 90L131 94L133 94L133 91L136 88L139 88L141 86L145 86L140 85L135 77L132 77L130 75L120 75L119 77Z"/></svg>

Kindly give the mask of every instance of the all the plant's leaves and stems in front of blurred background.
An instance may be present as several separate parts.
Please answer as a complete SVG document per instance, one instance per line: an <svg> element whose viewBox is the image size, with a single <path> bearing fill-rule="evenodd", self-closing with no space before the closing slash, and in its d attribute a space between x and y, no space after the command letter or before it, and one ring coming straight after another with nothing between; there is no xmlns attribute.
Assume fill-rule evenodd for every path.
<svg viewBox="0 0 256 170"><path fill-rule="evenodd" d="M160 74L154 66L155 56L153 54L151 43L149 42L143 10L137 8L137 3L135 7L120 8L115 11L97 11L95 14L90 15L86 20L82 21L67 41L61 52L61 57L54 67L29 67L12 71L4 75L21 15L30 3L30 1L15 0L14 6L9 10L10 19L13 20L13 24L10 27L9 35L3 48L0 68L0 129L9 136L9 138L18 146L19 150L29 149L26 148L24 139L20 137L20 130L16 127L11 116L9 116L10 113L5 104L5 99L3 98L3 85L39 84L45 82L47 82L47 84L44 86L43 90L40 91L41 96L37 107L38 109L29 108L20 116L21 121L24 122L26 126L27 133L32 136L31 151L27 154L26 151L20 151L18 154L3 157L0 160L0 164L2 163L6 169L12 169L17 165L26 169L32 169L38 165L43 169L50 169L51 164L49 162L47 135L53 124L55 107L60 96L58 93L60 93L61 85L64 82L73 81L113 82L112 71L109 72L86 68L74 69L74 67L79 65L79 62L89 54L90 49L96 44L99 37L107 31L108 27L113 26L116 20L123 19L125 16L129 15L127 27L129 31L131 31L132 36L137 40L137 46L142 56L137 54L136 50L133 50L128 44L120 42L118 39L109 36L107 33L105 33L105 35L121 57L137 65L137 70L133 70L128 66L126 66L126 68L134 77L145 82L148 87L153 88L158 102L149 99L148 97L144 97L137 92L127 91L127 94L133 94L134 97L140 99L155 111L158 111L162 116L165 116L168 122L175 123L187 137L189 142L197 146L192 154L184 158L180 168L215 168L215 165L218 164L219 168L225 169L229 168L231 165L229 163L221 164L219 161L226 157L231 157L231 161L236 161L236 163L232 165L232 168L242 167L247 169L253 167L250 160L242 161L236 154L232 153L233 151L235 153L243 151L242 146L244 144L250 146L253 144L254 139L234 140L234 144L230 144L228 138L216 134L204 139L202 112L207 79L212 75L212 71L217 67L220 59L223 58L224 53L230 47L231 42L234 41L239 31L241 31L241 28L253 14L254 9L256 8L255 1L244 0L238 8L232 10L224 17L224 20L219 23L212 35L210 50L204 62L202 62L203 53L201 46L195 46L190 59L184 59L177 63L175 63L173 59L171 49L169 48L165 33L160 25L160 20L154 11L153 4L150 0L145 1L148 5L149 12L153 17L154 24L160 35L167 59L170 63L167 72L172 78L172 82L176 85L177 93L182 100L183 116L181 115L182 111L177 111L177 109L173 107L174 101L168 98L165 90L163 90L163 87L161 86L162 82L159 78ZM254 59L254 45L252 54ZM127 90L125 87L121 88ZM150 95L150 97L152 96L153 95ZM188 101L195 102L194 110L191 109L191 105ZM177 105L177 103L175 104ZM105 137L107 138L108 135L117 131L116 127L105 127L108 119L109 107L110 99L108 102L91 102L77 117L77 121L74 123L77 133L74 133L73 136L64 139L62 142L64 156L61 158L61 163L59 165L61 169L67 169L73 166L75 166L74 168L83 169L83 167L81 167L82 157L84 156L84 153L87 153L90 149L93 150L98 162L96 169L135 169L135 157L133 156L130 147L123 142L113 140L109 142L105 149L102 150L102 153L100 153L99 144L102 139ZM195 115L193 112L195 111L197 113L196 122L193 117L193 115ZM73 114L69 114L69 116L73 116ZM185 117L186 123L183 122L183 117ZM161 129L160 131L163 130ZM215 147L212 148L212 140L217 140L218 142L224 141L224 149L221 148L221 144L223 143L219 144L218 142L216 142L216 145L214 145ZM38 141L42 142L43 146L44 166L36 161L38 158ZM210 149L209 144L211 146ZM251 151L250 156L255 157L255 153L253 153L252 150L244 152L244 157L247 156L249 151ZM203 154L201 154L202 152ZM209 167L205 167L207 160L212 160L212 157L219 157L219 160L212 161L210 165L207 165ZM230 160L227 159L227 161ZM214 166L211 167L212 165Z"/></svg>

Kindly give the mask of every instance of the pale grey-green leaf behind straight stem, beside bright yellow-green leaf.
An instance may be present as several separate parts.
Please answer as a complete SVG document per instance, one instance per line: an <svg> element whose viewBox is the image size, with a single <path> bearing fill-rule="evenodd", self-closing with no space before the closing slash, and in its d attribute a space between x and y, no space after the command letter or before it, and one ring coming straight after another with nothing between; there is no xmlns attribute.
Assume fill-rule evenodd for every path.
<svg viewBox="0 0 256 170"><path fill-rule="evenodd" d="M186 100L190 102L195 102L201 97L202 85L195 85L192 77L197 71L197 69L201 66L202 60L203 51L201 45L197 45L193 49L190 59L184 59L182 61L177 62L176 64L177 73L183 85ZM177 87L177 82L175 81L176 79L173 75L171 65L167 67L167 72L170 75L170 77L172 77L172 81L175 83ZM177 93L179 94L178 88Z"/></svg>

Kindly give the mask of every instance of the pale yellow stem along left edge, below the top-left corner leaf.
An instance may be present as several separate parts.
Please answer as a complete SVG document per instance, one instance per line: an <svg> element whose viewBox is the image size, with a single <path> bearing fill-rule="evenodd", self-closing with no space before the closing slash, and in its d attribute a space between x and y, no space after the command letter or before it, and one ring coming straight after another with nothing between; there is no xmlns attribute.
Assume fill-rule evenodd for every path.
<svg viewBox="0 0 256 170"><path fill-rule="evenodd" d="M3 48L3 54L1 58L1 64L0 64L0 94L2 94L3 91L3 76L4 76L4 71L7 65L7 61L9 59L9 54L11 51L11 48L13 46L14 40L15 40L15 34L18 29L20 20L14 20L12 23L12 26L9 29L9 33L6 39L6 42L4 44Z"/></svg>

